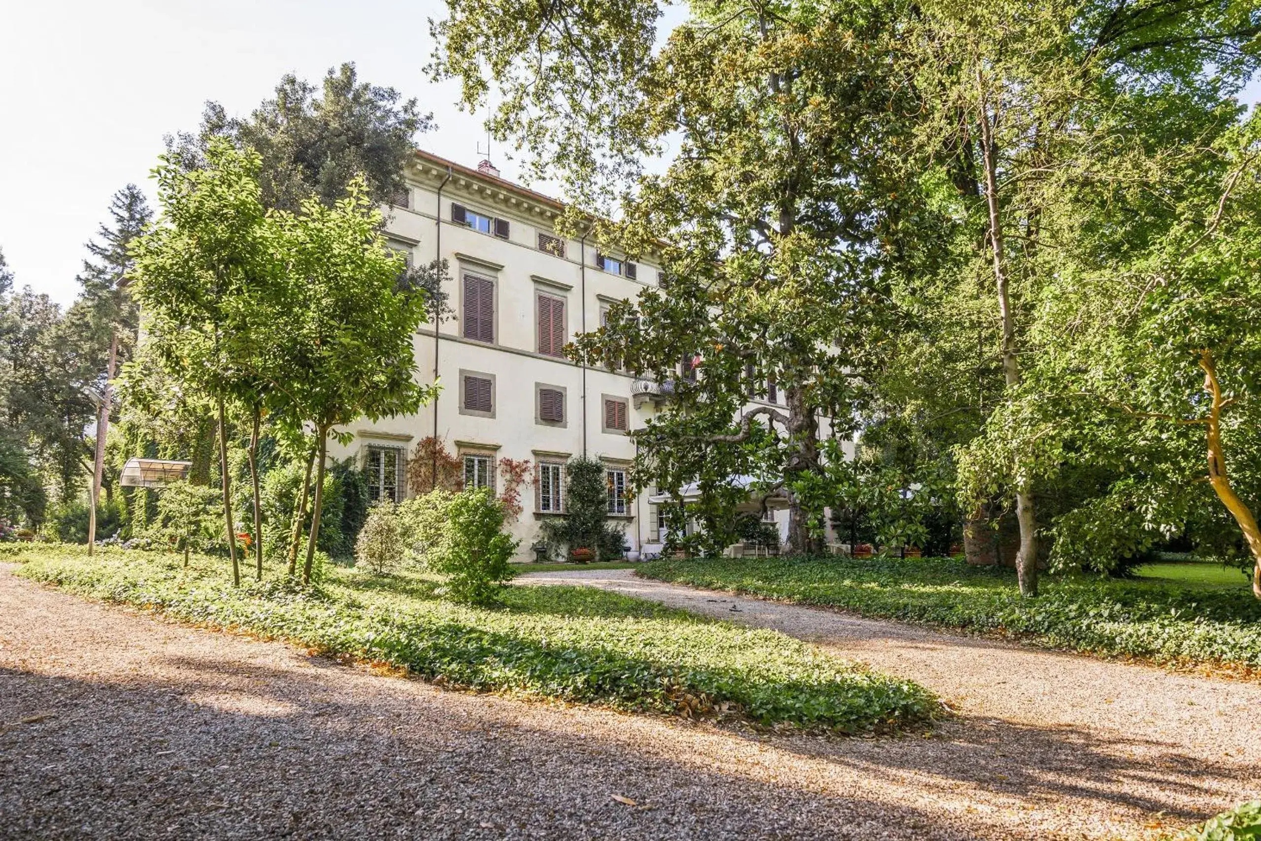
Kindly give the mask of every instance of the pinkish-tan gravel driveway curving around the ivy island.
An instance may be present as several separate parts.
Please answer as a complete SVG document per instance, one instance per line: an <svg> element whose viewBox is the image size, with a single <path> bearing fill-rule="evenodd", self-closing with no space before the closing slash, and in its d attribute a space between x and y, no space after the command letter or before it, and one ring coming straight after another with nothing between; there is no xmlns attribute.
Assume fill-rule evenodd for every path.
<svg viewBox="0 0 1261 841"><path fill-rule="evenodd" d="M1251 685L884 623L841 635L831 623L854 620L821 614L808 633L837 633L890 671L937 661L917 677L963 716L931 738L781 735L443 691L83 601L11 569L0 565L3 838L1141 837L1160 812L1180 822L1257 784ZM733 613L697 591L643 595L792 622L754 615L779 608L767 603ZM1161 697L1132 697L1150 692ZM1090 711L1066 700L1087 696ZM1009 712L1021 699L1045 714ZM1124 735L1108 716L1119 704Z"/></svg>

